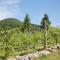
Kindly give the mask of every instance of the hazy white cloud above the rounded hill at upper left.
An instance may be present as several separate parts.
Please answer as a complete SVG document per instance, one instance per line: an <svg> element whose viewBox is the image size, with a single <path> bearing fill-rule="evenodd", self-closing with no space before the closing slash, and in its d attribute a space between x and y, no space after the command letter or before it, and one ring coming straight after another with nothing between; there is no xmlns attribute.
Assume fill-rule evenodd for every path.
<svg viewBox="0 0 60 60"><path fill-rule="evenodd" d="M21 13L19 3L21 0L0 0L0 20L8 17L16 17Z"/></svg>

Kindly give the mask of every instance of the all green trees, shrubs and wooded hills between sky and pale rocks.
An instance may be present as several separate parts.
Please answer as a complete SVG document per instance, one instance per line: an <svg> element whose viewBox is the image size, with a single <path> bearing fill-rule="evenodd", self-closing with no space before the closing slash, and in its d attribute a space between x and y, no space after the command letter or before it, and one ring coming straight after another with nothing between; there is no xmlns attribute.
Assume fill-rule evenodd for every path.
<svg viewBox="0 0 60 60"><path fill-rule="evenodd" d="M24 22L14 18L0 21L0 57L6 59L60 44L60 28L49 26L47 15L44 15L41 26L31 24L28 15L26 15ZM44 37L46 31L48 32Z"/></svg>

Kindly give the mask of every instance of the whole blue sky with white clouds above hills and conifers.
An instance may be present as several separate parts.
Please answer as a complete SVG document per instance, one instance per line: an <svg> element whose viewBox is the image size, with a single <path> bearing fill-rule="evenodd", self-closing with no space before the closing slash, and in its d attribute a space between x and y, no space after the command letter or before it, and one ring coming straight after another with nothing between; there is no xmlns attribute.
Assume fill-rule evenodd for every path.
<svg viewBox="0 0 60 60"><path fill-rule="evenodd" d="M33 24L40 24L44 14L53 26L60 27L60 0L0 0L0 20L17 18L24 20L28 14Z"/></svg>

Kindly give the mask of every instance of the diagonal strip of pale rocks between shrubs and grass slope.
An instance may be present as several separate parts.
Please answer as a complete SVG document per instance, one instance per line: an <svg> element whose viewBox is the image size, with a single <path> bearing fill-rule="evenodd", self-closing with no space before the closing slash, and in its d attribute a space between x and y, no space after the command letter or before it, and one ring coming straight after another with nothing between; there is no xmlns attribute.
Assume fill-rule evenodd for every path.
<svg viewBox="0 0 60 60"><path fill-rule="evenodd" d="M46 48L42 51L37 51L32 54L27 54L23 56L16 56L15 58L8 58L7 60L33 60L34 58L38 58L43 55L49 55L52 52L56 52L56 49L60 49L60 45L53 46L51 48Z"/></svg>

